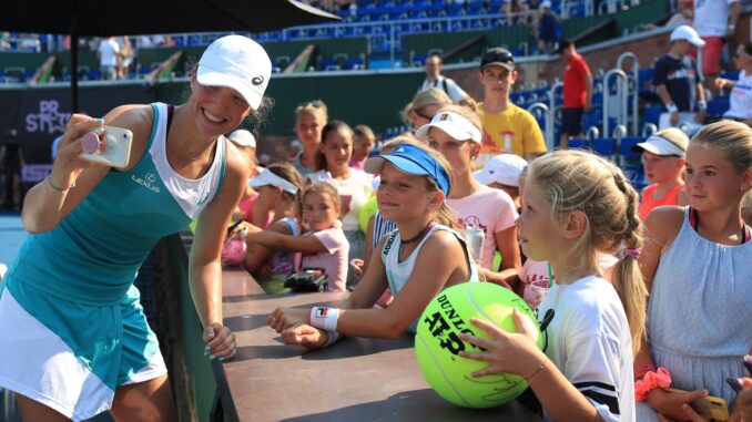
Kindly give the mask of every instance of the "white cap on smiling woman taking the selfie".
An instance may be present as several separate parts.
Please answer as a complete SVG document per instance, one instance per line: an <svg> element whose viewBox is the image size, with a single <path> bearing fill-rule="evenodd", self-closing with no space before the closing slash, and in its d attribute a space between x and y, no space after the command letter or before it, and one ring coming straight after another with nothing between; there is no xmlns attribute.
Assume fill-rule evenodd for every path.
<svg viewBox="0 0 752 422"><path fill-rule="evenodd" d="M202 85L227 86L254 110L261 105L272 76L272 61L264 48L243 35L226 35L212 42L199 61L196 80Z"/></svg>

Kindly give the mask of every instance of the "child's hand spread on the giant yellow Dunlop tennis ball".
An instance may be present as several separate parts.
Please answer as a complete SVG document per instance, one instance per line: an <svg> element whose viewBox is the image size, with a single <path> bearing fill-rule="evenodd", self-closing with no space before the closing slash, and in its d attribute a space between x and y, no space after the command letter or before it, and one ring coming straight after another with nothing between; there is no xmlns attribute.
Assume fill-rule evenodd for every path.
<svg viewBox="0 0 752 422"><path fill-rule="evenodd" d="M486 349L486 352L459 352L463 358L488 362L488 367L472 372L472 377L490 375L495 373L517 373L527 377L533 373L545 359L536 344L537 330L530 318L515 309L512 311L517 332L507 332L494 323L472 318L470 322L486 331L491 339L459 334L463 341Z"/></svg>

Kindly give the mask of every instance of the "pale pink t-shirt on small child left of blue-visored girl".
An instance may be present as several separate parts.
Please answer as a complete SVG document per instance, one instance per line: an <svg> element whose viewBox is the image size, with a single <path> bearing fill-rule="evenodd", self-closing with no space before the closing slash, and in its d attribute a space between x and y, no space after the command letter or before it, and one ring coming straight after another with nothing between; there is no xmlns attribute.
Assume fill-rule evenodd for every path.
<svg viewBox="0 0 752 422"><path fill-rule="evenodd" d="M339 223L339 222L337 222ZM345 238L342 225L318 231L308 231L303 236L315 236L327 251L303 255L301 269L324 268L329 291L345 291L347 289L347 254L349 244Z"/></svg>

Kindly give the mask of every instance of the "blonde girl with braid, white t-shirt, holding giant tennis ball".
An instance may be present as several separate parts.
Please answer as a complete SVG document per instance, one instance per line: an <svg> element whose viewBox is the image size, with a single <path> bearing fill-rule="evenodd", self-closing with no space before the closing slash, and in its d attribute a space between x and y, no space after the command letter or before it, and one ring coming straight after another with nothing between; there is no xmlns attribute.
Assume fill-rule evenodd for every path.
<svg viewBox="0 0 752 422"><path fill-rule="evenodd" d="M556 275L538 308L543 350L532 321L515 311L517 333L472 319L491 339L460 334L487 350L460 353L489 363L474 375L524 377L546 420L634 421L632 346L644 334L646 307L636 259L638 194L613 164L568 150L530 164L524 199L517 220L522 249L530 259L548 260ZM597 250L622 244L627 248L611 285L598 267Z"/></svg>

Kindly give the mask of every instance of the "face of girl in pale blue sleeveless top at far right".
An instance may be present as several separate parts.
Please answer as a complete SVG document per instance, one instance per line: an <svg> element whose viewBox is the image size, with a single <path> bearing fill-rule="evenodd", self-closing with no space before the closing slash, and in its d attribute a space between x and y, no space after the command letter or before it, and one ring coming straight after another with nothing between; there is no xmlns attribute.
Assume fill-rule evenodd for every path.
<svg viewBox="0 0 752 422"><path fill-rule="evenodd" d="M714 151L699 144L690 144L687 151L687 181L684 188L690 205L707 212L741 200L744 174L739 173L723 151ZM746 171L748 178L751 171Z"/></svg>

